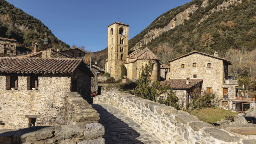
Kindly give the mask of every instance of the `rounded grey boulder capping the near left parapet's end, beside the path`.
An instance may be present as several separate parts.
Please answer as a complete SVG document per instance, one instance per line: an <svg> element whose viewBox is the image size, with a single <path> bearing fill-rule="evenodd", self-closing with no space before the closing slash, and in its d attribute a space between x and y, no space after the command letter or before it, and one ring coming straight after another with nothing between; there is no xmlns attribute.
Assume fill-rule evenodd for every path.
<svg viewBox="0 0 256 144"><path fill-rule="evenodd" d="M84 136L99 137L105 134L105 128L100 123L90 123L85 126Z"/></svg>

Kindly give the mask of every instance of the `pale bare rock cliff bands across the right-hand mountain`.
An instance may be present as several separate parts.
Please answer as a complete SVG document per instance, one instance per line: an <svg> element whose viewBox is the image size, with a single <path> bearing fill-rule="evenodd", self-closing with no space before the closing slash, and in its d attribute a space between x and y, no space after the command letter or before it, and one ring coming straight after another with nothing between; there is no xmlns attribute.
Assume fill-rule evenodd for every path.
<svg viewBox="0 0 256 144"><path fill-rule="evenodd" d="M217 6L217 8L213 8L209 11L209 15L211 15L214 12L223 10L223 9L227 9L229 5L231 4L238 4L241 3L241 0L228 0L228 1L224 1L222 4L219 4ZM204 0L201 7L206 7L208 6L208 0ZM193 4L191 7L185 9L183 12L180 12L179 14L177 14L170 22L168 25L166 25L164 28L158 28L158 29L154 29L149 31L146 35L144 35L143 39L141 39L138 43L135 44L134 47L131 47L130 50L136 50L140 47L142 47L143 45L148 44L149 42L151 42L152 39L155 39L157 37L159 37L163 32L167 32L170 29L174 29L176 26L181 25L184 23L185 20L189 19L189 14L190 13L194 13L199 7L196 6L195 4ZM171 11L172 12L172 11ZM170 12L170 13L171 13ZM209 15L205 15L199 22L198 24L200 24L201 22L203 22L205 19L208 18Z"/></svg>

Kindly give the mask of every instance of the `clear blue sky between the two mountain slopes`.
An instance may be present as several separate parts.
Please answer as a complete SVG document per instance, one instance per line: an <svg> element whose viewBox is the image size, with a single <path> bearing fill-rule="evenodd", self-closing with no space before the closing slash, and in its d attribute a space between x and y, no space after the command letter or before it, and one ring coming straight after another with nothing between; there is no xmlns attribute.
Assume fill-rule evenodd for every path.
<svg viewBox="0 0 256 144"><path fill-rule="evenodd" d="M130 25L129 39L158 16L191 0L7 0L41 20L52 33L70 46L99 51L107 47L107 26Z"/></svg>

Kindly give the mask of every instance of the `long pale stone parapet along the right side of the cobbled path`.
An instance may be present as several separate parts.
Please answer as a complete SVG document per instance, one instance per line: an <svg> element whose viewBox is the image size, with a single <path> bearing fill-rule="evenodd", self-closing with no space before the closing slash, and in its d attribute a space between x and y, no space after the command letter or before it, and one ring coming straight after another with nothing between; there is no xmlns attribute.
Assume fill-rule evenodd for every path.
<svg viewBox="0 0 256 144"><path fill-rule="evenodd" d="M144 129L166 144L252 144L256 135L242 135L232 129L218 129L209 123L198 120L182 110L145 100L121 92L105 92L94 97L93 103L103 103L122 110L138 122ZM255 126L249 125L246 128ZM232 127L233 128L233 127ZM243 128L243 127L237 127Z"/></svg>

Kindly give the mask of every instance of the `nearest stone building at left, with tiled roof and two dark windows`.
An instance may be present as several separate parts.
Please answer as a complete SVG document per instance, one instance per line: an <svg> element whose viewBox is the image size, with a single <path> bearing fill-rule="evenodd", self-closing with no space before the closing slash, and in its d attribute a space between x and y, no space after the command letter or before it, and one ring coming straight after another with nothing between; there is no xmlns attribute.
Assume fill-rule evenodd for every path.
<svg viewBox="0 0 256 144"><path fill-rule="evenodd" d="M64 92L90 100L92 72L81 59L0 58L0 129L62 124Z"/></svg>

